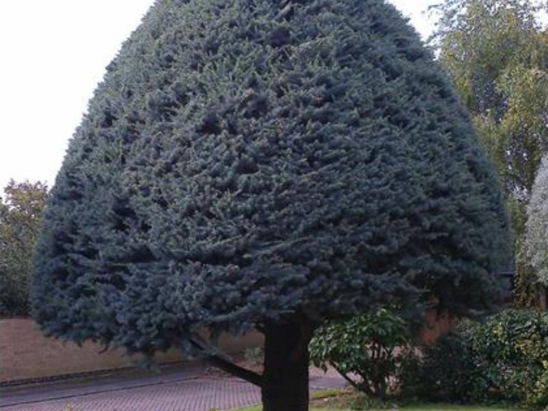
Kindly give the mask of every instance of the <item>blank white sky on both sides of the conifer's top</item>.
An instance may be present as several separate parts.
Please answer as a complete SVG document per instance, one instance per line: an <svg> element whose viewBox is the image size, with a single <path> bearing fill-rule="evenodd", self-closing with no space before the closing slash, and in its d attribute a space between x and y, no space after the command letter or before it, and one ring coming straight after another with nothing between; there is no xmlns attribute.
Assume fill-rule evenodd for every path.
<svg viewBox="0 0 548 411"><path fill-rule="evenodd" d="M428 36L436 0L389 0ZM0 194L55 181L105 67L154 0L0 1Z"/></svg>

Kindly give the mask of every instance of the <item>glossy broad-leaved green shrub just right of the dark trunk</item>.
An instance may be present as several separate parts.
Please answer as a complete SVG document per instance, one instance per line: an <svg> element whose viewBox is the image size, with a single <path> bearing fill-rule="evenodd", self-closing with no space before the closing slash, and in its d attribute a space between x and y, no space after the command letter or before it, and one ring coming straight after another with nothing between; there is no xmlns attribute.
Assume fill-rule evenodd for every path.
<svg viewBox="0 0 548 411"><path fill-rule="evenodd" d="M410 336L408 322L382 308L323 325L310 343L310 358L323 369L332 365L363 393L382 398L397 373L398 348L408 345Z"/></svg>

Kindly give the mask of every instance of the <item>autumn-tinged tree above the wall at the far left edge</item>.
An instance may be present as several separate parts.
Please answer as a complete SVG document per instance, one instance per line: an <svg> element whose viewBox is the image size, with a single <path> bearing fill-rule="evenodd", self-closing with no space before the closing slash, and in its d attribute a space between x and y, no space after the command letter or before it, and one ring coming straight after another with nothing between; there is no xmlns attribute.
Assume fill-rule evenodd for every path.
<svg viewBox="0 0 548 411"><path fill-rule="evenodd" d="M0 197L0 314L29 313L32 253L47 199L41 182L13 180Z"/></svg>

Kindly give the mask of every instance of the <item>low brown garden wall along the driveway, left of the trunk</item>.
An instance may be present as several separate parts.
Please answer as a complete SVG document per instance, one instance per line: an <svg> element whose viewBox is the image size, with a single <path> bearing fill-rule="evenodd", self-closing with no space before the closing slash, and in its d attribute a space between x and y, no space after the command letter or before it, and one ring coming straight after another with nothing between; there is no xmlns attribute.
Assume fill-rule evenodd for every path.
<svg viewBox="0 0 548 411"><path fill-rule="evenodd" d="M261 343L260 334L249 334L238 340L225 336L219 345L223 351L235 353ZM92 343L78 347L47 338L29 319L0 319L0 382L121 369L133 366L137 359L125 356L121 349L101 351ZM171 351L157 360L175 362L182 358L177 351Z"/></svg>

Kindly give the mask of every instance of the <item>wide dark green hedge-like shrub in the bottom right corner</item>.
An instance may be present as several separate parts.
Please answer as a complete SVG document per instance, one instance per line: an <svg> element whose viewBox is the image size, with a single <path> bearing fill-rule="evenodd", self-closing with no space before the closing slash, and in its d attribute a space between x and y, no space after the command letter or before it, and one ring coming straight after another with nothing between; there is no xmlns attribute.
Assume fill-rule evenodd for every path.
<svg viewBox="0 0 548 411"><path fill-rule="evenodd" d="M548 406L548 314L508 310L466 321L410 356L403 391L435 401L509 401Z"/></svg>

